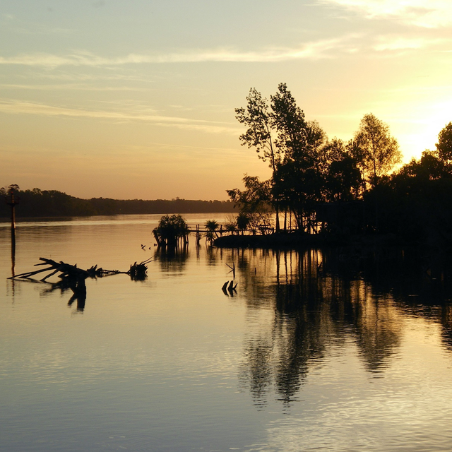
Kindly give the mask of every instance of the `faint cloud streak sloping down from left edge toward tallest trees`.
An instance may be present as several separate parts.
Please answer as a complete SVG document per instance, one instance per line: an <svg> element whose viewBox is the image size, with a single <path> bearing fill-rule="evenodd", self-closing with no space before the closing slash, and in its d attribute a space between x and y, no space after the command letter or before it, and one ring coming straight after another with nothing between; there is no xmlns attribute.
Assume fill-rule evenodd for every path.
<svg viewBox="0 0 452 452"><path fill-rule="evenodd" d="M241 131L230 124L203 119L189 119L183 117L167 117L145 112L121 112L90 109L75 109L54 105L24 102L21 100L0 100L0 112L9 114L35 114L47 117L73 117L105 119L119 122L144 121L156 126L177 127L179 129L193 129L208 133L231 133L237 135Z"/></svg>

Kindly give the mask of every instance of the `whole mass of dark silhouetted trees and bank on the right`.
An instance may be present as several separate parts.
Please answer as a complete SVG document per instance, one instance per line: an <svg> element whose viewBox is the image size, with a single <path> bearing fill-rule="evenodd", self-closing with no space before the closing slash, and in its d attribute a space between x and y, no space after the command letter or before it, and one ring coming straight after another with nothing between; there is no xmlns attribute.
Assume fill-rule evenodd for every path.
<svg viewBox="0 0 452 452"><path fill-rule="evenodd" d="M401 161L398 143L374 114L365 114L345 143L307 121L284 83L270 102L254 88L246 102L236 109L246 126L240 140L273 174L266 181L245 175L244 189L227 191L255 237L239 237L236 227L234 237L215 244L321 244L384 235L397 243L452 245L452 123L439 133L435 150L391 173Z"/></svg>

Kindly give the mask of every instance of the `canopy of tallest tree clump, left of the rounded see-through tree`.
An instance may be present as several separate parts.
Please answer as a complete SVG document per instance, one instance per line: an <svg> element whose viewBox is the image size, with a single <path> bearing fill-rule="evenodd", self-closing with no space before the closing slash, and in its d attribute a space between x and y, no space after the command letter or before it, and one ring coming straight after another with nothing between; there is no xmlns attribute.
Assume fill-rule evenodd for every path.
<svg viewBox="0 0 452 452"><path fill-rule="evenodd" d="M245 191L227 191L242 212L261 215L264 222L273 206L277 231L279 210L292 213L304 230L316 203L358 196L362 177L357 157L342 141L329 141L318 122L307 121L285 83L278 85L270 102L256 88L251 88L246 102L246 107L235 110L247 127L240 141L269 162L272 177L261 182L245 176Z"/></svg>

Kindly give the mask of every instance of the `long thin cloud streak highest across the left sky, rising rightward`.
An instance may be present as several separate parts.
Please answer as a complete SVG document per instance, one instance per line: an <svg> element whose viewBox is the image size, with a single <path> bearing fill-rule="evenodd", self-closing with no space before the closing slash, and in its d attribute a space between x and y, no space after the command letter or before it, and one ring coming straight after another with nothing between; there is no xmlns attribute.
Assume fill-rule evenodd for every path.
<svg viewBox="0 0 452 452"><path fill-rule="evenodd" d="M121 66L124 64L162 64L162 63L201 63L207 61L225 62L278 62L296 59L319 59L330 57L332 51L340 50L345 42L356 38L356 35L308 42L297 48L271 48L255 52L240 52L234 49L198 49L190 52L169 54L128 54L125 57L100 57L90 52L73 52L68 55L47 53L20 54L15 57L0 57L0 64L45 66Z"/></svg>

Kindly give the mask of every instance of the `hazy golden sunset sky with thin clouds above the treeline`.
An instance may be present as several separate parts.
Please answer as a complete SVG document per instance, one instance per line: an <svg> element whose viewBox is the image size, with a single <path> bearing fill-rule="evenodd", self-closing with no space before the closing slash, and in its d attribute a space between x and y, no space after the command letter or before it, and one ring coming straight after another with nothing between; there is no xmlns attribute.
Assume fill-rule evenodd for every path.
<svg viewBox="0 0 452 452"><path fill-rule="evenodd" d="M227 199L270 177L234 108L282 82L329 138L375 114L408 162L451 74L450 0L1 0L0 186Z"/></svg>

